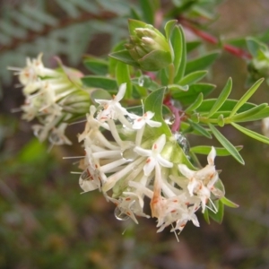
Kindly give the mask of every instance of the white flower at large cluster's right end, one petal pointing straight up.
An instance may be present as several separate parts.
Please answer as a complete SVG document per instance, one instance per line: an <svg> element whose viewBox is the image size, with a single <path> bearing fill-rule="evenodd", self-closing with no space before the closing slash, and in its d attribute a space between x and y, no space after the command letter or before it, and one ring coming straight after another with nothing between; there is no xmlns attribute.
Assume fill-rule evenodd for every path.
<svg viewBox="0 0 269 269"><path fill-rule="evenodd" d="M190 195L198 195L202 202L203 213L206 207L207 201L210 199L210 194L213 189L213 185L219 178L219 174L214 166L214 158L216 156L216 150L212 147L211 152L207 157L208 165L204 169L197 171L187 168L185 164L179 164L178 169L180 173L189 179L187 189Z"/></svg>

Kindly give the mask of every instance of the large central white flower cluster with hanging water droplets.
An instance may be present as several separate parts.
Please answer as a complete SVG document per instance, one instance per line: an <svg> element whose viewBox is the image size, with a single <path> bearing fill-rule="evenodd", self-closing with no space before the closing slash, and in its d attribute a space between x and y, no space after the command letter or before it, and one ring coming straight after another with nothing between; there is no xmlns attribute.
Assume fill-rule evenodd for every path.
<svg viewBox="0 0 269 269"><path fill-rule="evenodd" d="M211 196L223 195L215 187L219 180L215 149L204 169L189 169L175 135L156 132L161 122L152 120L152 111L137 116L121 106L125 91L126 84L122 84L113 100L96 100L100 107L90 108L85 130L79 135L85 148L80 163L82 190L100 189L117 205L115 214L120 220L129 217L138 223L136 216L149 218L143 212L144 197L148 197L158 231L171 225L171 231L180 232L187 221L199 226L195 212L200 207L203 212L206 207L216 212Z"/></svg>

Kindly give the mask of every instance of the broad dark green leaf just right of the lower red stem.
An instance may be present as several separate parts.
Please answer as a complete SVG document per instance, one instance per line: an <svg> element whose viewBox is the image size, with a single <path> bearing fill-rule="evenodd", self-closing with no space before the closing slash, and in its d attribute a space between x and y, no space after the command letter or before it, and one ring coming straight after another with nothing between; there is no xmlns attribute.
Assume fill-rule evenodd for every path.
<svg viewBox="0 0 269 269"><path fill-rule="evenodd" d="M214 88L215 85L213 84L196 83L190 85L188 91L171 92L171 94L174 99L179 100L183 105L189 105L196 100L200 92L202 92L203 95L206 96L211 91L213 91Z"/></svg>

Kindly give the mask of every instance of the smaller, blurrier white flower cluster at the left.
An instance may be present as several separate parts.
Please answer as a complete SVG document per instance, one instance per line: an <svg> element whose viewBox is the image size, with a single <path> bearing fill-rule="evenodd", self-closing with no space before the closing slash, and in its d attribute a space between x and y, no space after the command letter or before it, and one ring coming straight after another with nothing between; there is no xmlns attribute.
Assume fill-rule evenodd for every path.
<svg viewBox="0 0 269 269"><path fill-rule="evenodd" d="M22 118L30 121L39 118L40 125L33 126L34 134L40 141L49 139L52 144L70 144L65 136L67 124L64 122L72 115L65 113L66 98L77 94L78 86L71 79L65 66L59 70L46 68L42 54L35 59L27 58L24 68L10 67L19 76L25 102L22 105ZM77 82L82 74L76 72ZM89 102L88 102L89 106Z"/></svg>

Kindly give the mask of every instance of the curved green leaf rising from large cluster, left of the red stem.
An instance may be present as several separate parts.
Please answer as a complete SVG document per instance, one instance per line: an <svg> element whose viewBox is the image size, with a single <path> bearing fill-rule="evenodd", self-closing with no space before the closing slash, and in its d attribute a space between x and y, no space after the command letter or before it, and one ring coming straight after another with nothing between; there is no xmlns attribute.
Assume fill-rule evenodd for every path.
<svg viewBox="0 0 269 269"><path fill-rule="evenodd" d="M154 133L161 135L166 134L171 136L171 131L169 126L165 123L162 117L162 101L166 88L162 87L156 91L152 91L152 93L144 100L144 109L145 111L154 112L154 117L152 120L156 120L161 122L161 127L154 128Z"/></svg>

